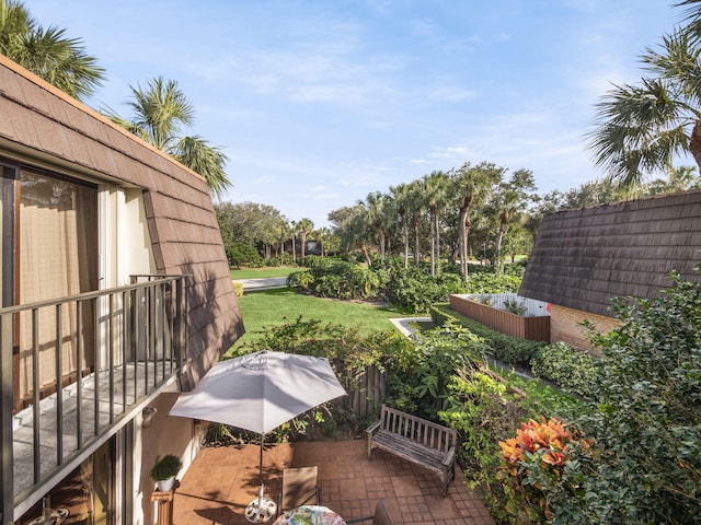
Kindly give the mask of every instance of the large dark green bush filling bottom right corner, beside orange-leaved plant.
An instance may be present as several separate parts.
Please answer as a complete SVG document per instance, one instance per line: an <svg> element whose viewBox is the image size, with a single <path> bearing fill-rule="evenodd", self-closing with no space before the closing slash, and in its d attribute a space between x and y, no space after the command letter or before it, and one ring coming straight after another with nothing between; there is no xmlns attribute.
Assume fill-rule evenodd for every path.
<svg viewBox="0 0 701 525"><path fill-rule="evenodd" d="M518 463L549 523L699 522L701 284L673 279L657 299L617 301L621 326L591 336L601 353L594 401L572 421L591 446L567 451L558 476L532 455Z"/></svg>

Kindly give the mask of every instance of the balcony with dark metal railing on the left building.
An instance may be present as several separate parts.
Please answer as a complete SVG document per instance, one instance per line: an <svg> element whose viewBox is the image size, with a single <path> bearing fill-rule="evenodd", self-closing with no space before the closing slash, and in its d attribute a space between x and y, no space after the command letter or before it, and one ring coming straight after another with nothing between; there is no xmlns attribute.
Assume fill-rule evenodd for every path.
<svg viewBox="0 0 701 525"><path fill-rule="evenodd" d="M187 277L0 310L3 509L20 515L176 381Z"/></svg>

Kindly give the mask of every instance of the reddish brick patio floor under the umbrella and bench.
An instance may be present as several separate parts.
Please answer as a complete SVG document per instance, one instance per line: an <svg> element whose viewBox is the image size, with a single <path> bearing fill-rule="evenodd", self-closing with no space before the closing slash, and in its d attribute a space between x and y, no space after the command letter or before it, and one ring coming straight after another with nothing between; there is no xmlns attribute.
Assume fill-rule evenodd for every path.
<svg viewBox="0 0 701 525"><path fill-rule="evenodd" d="M173 522L248 525L243 511L257 495L258 462L257 445L203 448L175 492ZM438 478L428 470L379 450L368 460L365 440L266 446L265 495L277 501L284 468L312 465L319 467L321 503L346 520L371 515L382 499L398 525L494 523L459 469L444 498Z"/></svg>

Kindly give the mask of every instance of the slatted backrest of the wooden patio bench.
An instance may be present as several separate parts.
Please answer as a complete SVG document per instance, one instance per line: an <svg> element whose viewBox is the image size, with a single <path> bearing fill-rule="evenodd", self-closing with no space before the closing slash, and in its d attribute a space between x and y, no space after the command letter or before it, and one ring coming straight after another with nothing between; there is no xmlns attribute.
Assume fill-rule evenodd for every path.
<svg viewBox="0 0 701 525"><path fill-rule="evenodd" d="M458 433L453 429L402 412L387 405L382 405L382 410L380 411L380 427L383 430L445 453L451 446L455 446L458 441Z"/></svg>

